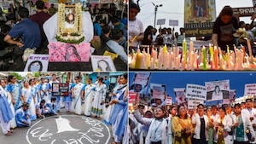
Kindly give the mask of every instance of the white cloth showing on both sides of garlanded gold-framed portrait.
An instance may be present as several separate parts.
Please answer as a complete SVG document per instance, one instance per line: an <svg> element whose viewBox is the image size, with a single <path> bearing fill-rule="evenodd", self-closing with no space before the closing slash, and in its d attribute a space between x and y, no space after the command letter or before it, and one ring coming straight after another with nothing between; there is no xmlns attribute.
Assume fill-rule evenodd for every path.
<svg viewBox="0 0 256 144"><path fill-rule="evenodd" d="M93 38L93 25L89 12L82 12L84 42L89 43ZM57 42L58 13L52 15L43 25L45 35L49 42Z"/></svg>

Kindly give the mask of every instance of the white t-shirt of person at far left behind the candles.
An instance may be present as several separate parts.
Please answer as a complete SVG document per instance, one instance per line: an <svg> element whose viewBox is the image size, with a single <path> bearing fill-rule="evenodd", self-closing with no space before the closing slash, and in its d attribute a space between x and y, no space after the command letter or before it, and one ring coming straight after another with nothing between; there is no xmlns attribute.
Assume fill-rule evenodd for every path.
<svg viewBox="0 0 256 144"><path fill-rule="evenodd" d="M136 20L129 20L129 39L132 39L134 36L138 36L140 33L143 33L143 23L141 20L138 20L136 18ZM138 41L135 39L132 43L131 43L131 47L137 47L138 45Z"/></svg>

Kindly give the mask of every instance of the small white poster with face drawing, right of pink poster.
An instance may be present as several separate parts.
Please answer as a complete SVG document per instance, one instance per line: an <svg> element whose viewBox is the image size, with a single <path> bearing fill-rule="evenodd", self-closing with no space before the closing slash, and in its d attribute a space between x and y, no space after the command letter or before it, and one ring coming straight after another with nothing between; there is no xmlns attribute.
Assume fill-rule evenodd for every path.
<svg viewBox="0 0 256 144"><path fill-rule="evenodd" d="M94 72L116 72L110 56L90 55Z"/></svg>

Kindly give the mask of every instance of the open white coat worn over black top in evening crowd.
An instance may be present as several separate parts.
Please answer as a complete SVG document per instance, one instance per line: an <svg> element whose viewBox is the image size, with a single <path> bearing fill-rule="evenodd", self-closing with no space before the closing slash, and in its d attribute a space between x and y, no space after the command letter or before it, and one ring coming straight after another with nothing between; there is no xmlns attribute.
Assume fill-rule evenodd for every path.
<svg viewBox="0 0 256 144"><path fill-rule="evenodd" d="M203 115L203 118L205 119L205 135L206 140L208 141L208 130L207 130L207 124L208 124L208 118L206 115ZM195 139L200 139L200 130L201 130L201 118L198 113L195 113L192 116L192 124L195 124L195 135L193 136Z"/></svg>

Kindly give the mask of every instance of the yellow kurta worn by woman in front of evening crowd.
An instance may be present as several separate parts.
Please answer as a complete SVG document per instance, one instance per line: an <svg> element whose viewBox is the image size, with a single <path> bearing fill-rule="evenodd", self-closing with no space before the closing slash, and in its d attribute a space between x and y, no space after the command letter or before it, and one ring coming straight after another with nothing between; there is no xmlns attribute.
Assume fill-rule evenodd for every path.
<svg viewBox="0 0 256 144"><path fill-rule="evenodd" d="M185 137L182 135L183 125L190 128L191 135L194 133L194 128L191 123L190 118L182 119L177 116L172 118L172 134L173 134L173 144L191 144L191 135Z"/></svg>

